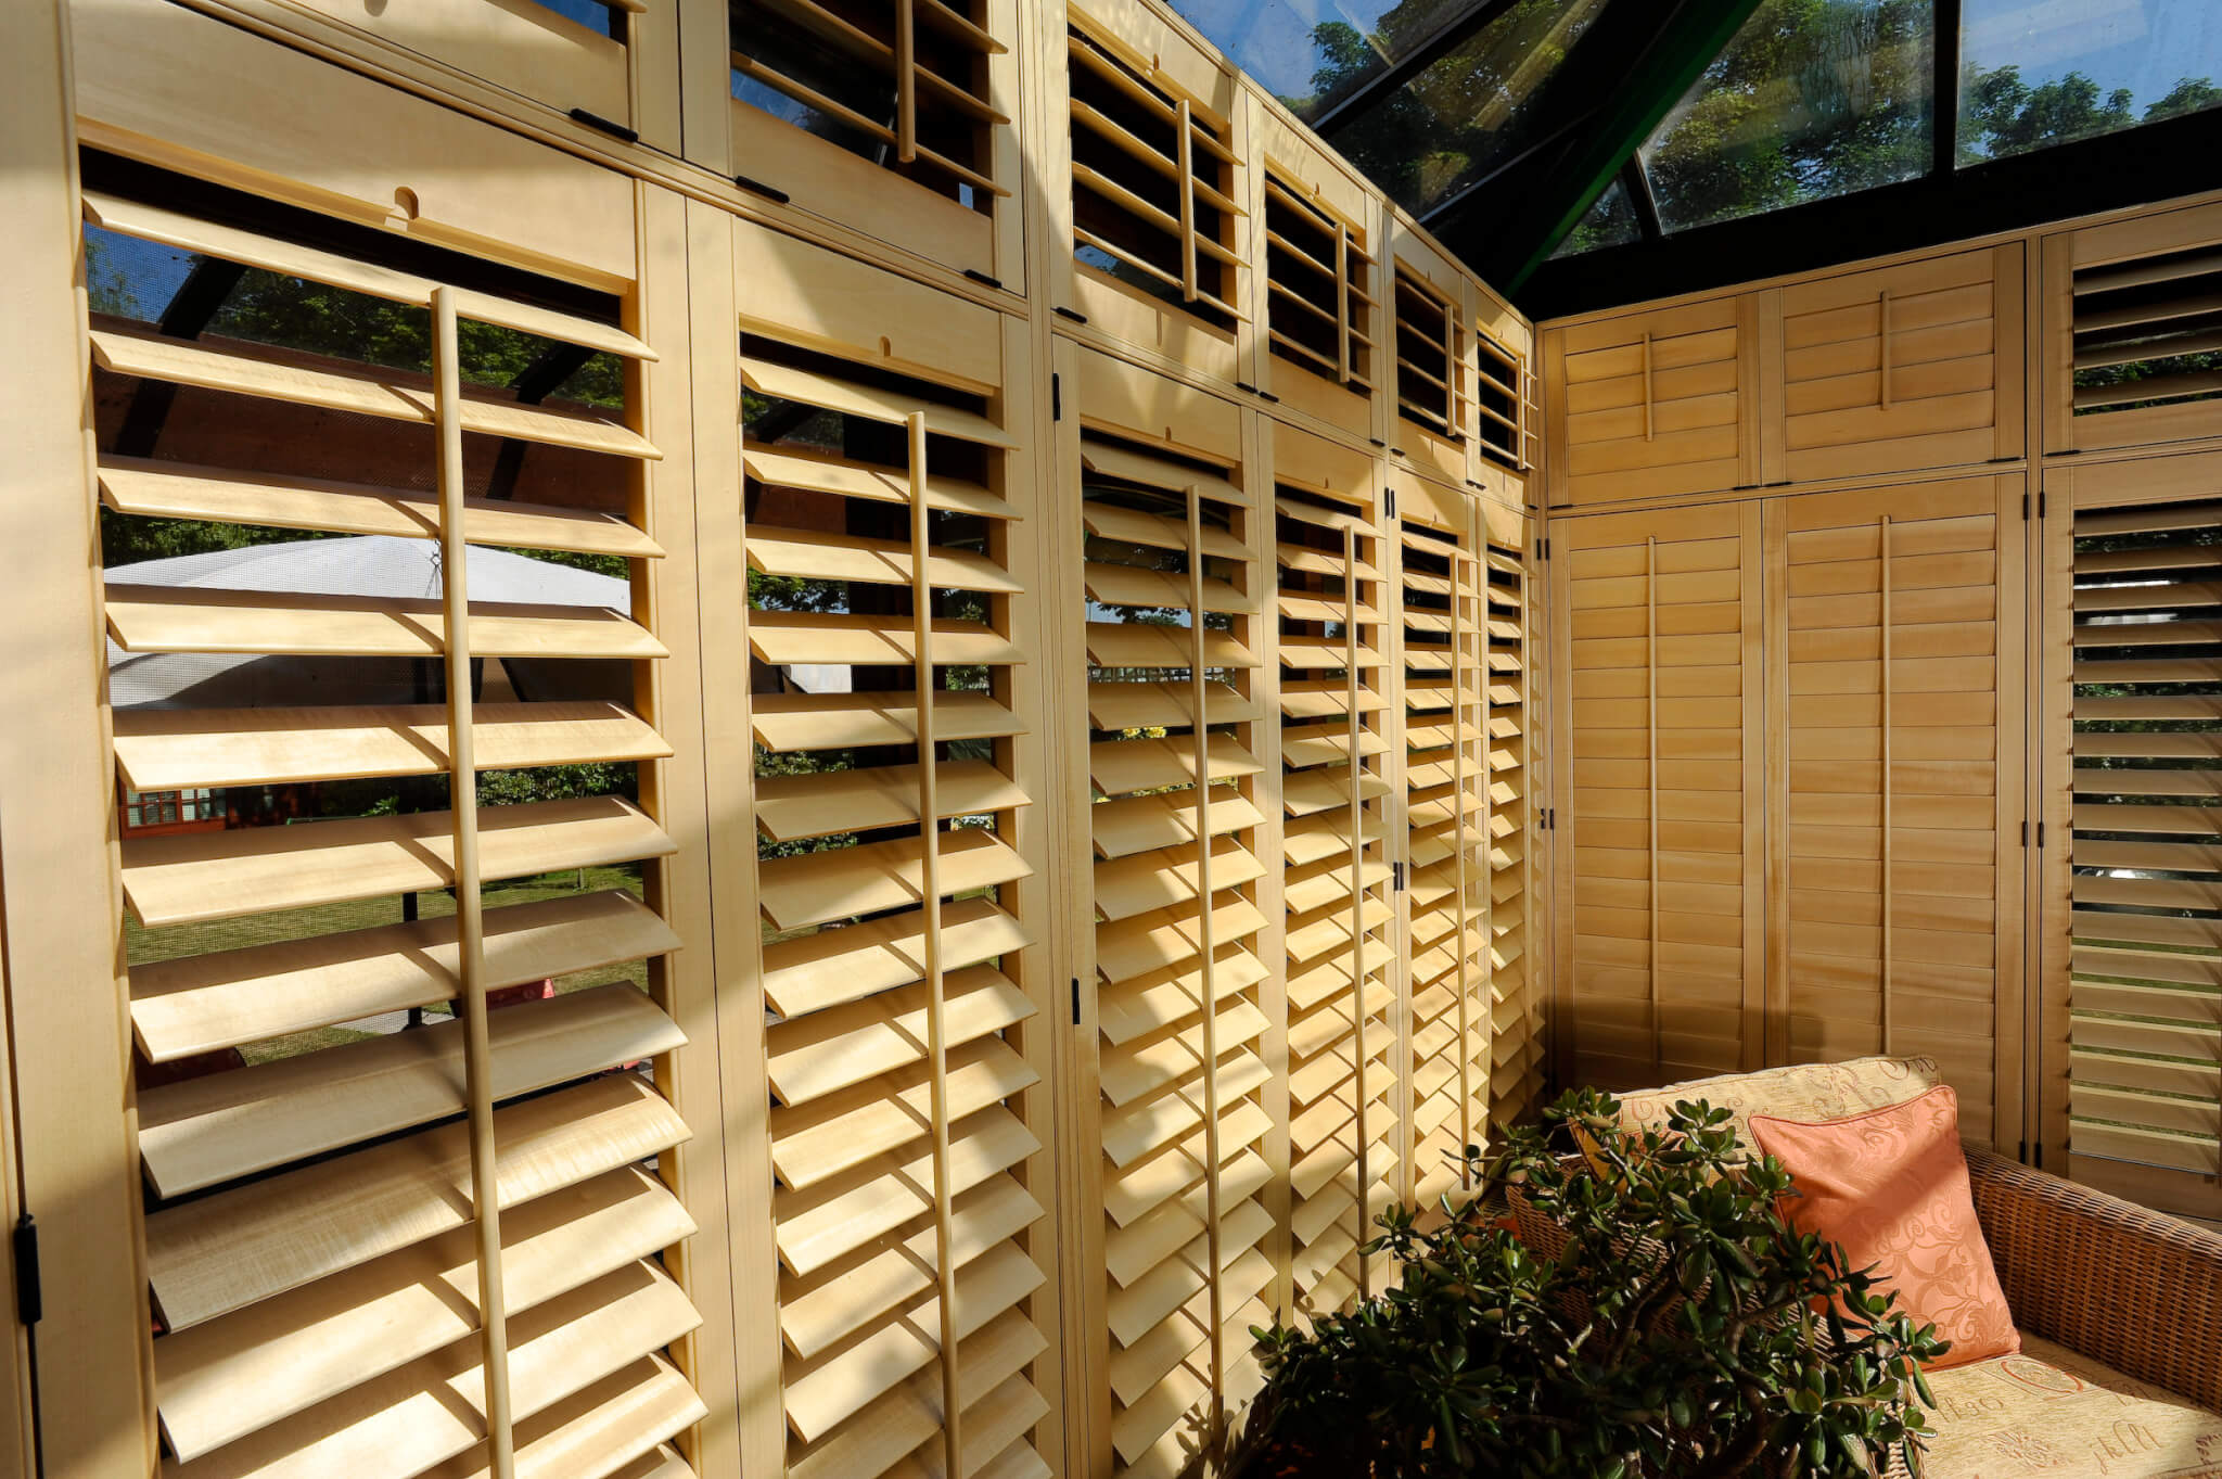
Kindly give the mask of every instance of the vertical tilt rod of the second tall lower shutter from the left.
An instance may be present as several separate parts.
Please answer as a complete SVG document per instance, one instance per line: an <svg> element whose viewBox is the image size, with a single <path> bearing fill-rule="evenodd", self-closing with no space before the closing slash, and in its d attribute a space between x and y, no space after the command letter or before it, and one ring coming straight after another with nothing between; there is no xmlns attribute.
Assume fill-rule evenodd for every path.
<svg viewBox="0 0 2222 1479"><path fill-rule="evenodd" d="M909 16L909 4L902 7ZM933 1272L940 1284L942 1461L964 1472L958 1388L955 1210L949 1199L949 977L942 968L942 806L933 759L933 575L927 569L927 413L904 417L911 444L911 686L918 691L918 895L924 904L927 1064L933 1117Z"/></svg>

